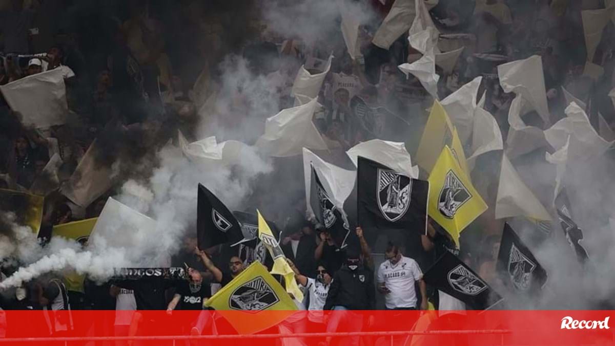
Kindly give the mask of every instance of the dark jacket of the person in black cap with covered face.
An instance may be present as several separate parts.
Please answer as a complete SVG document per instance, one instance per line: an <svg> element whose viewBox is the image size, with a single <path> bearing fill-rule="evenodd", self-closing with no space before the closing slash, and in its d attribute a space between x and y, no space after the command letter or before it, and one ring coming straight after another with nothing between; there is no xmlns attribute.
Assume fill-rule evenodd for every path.
<svg viewBox="0 0 615 346"><path fill-rule="evenodd" d="M343 265L333 275L323 310L331 310L336 305L349 310L373 310L375 304L373 273L364 266L353 271L347 265Z"/></svg>

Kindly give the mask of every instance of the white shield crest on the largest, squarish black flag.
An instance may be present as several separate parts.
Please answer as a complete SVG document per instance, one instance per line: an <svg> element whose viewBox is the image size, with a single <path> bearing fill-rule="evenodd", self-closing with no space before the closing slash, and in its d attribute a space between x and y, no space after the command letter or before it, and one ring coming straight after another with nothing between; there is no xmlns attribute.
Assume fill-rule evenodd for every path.
<svg viewBox="0 0 615 346"><path fill-rule="evenodd" d="M378 207L384 218L394 222L402 218L410 205L412 179L395 171L378 168Z"/></svg>

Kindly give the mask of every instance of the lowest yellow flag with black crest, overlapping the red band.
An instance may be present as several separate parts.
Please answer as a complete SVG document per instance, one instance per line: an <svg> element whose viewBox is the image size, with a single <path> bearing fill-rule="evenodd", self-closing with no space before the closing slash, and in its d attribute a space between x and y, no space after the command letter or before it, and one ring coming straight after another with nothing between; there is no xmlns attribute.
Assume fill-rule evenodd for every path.
<svg viewBox="0 0 615 346"><path fill-rule="evenodd" d="M282 285L258 261L203 305L218 310L239 334L253 334L274 326L297 309Z"/></svg>

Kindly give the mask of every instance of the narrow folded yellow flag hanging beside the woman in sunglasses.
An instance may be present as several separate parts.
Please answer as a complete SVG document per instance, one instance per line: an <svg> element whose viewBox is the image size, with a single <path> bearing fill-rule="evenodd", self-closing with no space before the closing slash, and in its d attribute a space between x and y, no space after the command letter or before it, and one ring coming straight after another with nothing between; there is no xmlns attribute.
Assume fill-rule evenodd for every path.
<svg viewBox="0 0 615 346"><path fill-rule="evenodd" d="M260 211L256 210L256 213L258 214L258 238L267 246L269 254L271 254L271 258L273 258L271 273L282 275L286 283L286 291L295 296L295 299L298 301L303 301L303 293L301 293L301 289L299 289L297 281L295 280L295 272L293 272L286 261L284 251L280 248L280 244L277 243L276 237L273 236L271 229L269 229L269 225Z"/></svg>

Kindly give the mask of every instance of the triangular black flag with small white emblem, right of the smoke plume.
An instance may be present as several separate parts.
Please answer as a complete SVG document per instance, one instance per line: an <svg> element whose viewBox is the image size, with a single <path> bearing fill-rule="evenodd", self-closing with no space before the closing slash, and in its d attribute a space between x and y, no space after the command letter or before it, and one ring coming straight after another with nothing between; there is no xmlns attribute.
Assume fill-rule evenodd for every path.
<svg viewBox="0 0 615 346"><path fill-rule="evenodd" d="M244 238L235 216L218 197L201 184L199 184L196 228L197 243L202 250L223 243L237 243Z"/></svg>

